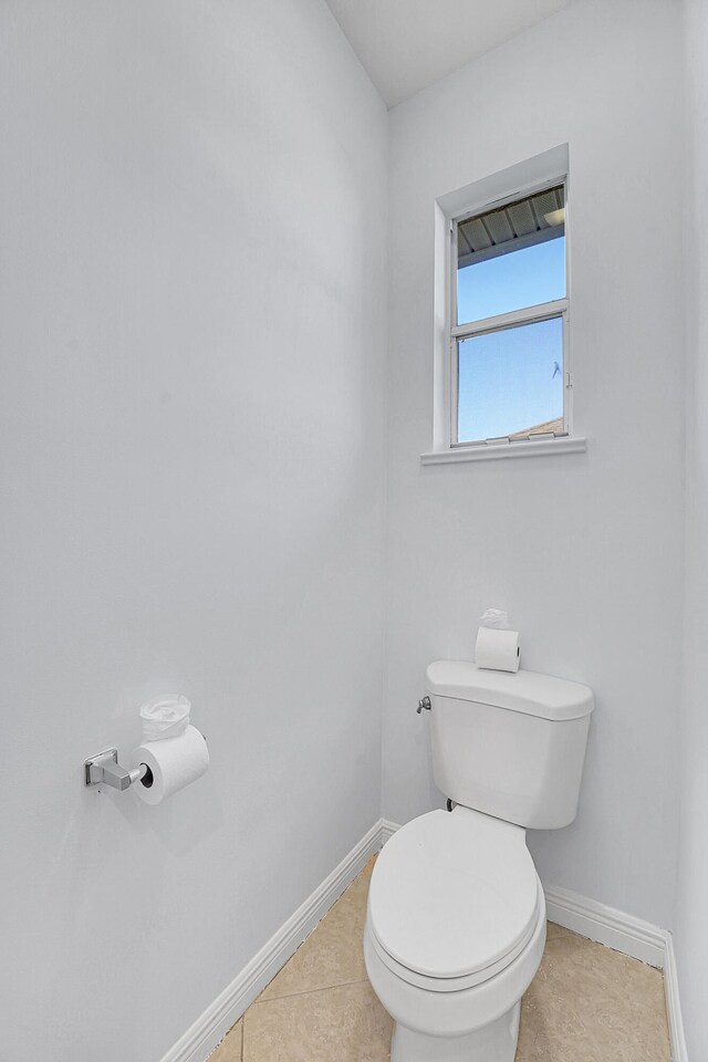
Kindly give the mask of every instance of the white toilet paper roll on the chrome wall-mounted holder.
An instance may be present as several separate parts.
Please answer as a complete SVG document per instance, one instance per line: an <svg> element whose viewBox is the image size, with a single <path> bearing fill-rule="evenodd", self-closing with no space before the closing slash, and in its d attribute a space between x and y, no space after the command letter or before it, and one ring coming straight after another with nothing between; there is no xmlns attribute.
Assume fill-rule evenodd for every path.
<svg viewBox="0 0 708 1062"><path fill-rule="evenodd" d="M207 742L196 727L187 727L176 738L145 741L135 750L138 763L150 769L147 778L135 784L135 791L146 804L162 804L185 785L201 778L209 768Z"/></svg>

